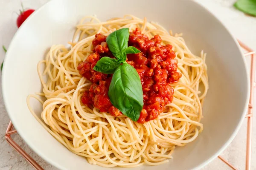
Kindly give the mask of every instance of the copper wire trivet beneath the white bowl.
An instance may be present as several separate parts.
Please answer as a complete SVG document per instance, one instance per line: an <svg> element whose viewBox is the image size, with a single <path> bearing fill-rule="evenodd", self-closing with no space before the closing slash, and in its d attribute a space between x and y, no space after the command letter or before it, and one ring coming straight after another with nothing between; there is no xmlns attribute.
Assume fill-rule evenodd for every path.
<svg viewBox="0 0 256 170"><path fill-rule="evenodd" d="M250 170L251 167L251 151L252 151L252 129L253 129L253 92L255 88L255 82L254 82L254 72L255 72L255 51L247 47L244 43L239 41L239 45L241 48L243 48L247 53L244 54L245 57L251 56L251 62L250 62L250 101L248 105L248 112L245 115L245 118L247 118L247 142L246 142L246 164L245 164L245 170ZM13 125L10 121L7 130L6 130L6 141L18 152L20 153L23 158L25 158L33 167L35 167L36 170L44 170L34 159L32 159L31 156L29 156L28 153L26 153L11 137L13 133L17 133L16 130L12 130ZM232 164L230 164L226 159L224 159L222 156L218 156L221 161L223 161L225 164L227 164L232 170L238 170L236 167L234 167Z"/></svg>

